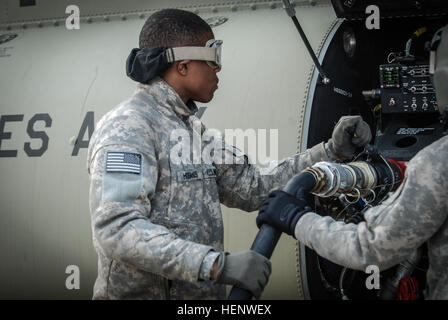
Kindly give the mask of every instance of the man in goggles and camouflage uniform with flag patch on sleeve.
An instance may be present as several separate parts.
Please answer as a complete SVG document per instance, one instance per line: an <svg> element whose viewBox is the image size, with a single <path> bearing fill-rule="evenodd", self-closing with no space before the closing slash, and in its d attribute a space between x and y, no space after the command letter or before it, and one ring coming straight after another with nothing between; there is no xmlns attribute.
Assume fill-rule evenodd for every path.
<svg viewBox="0 0 448 320"><path fill-rule="evenodd" d="M187 37L177 39L178 30ZM163 41L164 34L174 40ZM162 40L157 43L154 37ZM204 46L211 38L211 28L198 16L162 10L145 23L140 48L151 41ZM294 174L347 150L335 141L321 143L281 161L273 174L261 174L236 148L205 134L195 116L193 101L212 99L219 70L205 61L175 62L98 122L88 150L93 243L99 258L94 299L224 299L225 284L259 297L270 262L250 250L223 252L220 203L254 211L270 190ZM193 81L183 82L189 78ZM346 136L344 145L352 154L355 145L370 140L370 130L360 117L345 124L335 131ZM352 141L348 128L358 138ZM213 161L179 161L194 157L197 150L190 151L189 142L195 135L204 137L199 152L213 143Z"/></svg>

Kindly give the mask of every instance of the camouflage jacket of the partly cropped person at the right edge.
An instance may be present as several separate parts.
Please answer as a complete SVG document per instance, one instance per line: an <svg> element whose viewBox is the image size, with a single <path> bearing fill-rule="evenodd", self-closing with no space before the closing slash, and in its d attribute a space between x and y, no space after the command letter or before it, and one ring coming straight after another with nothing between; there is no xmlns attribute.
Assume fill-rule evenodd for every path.
<svg viewBox="0 0 448 320"><path fill-rule="evenodd" d="M448 299L448 136L408 163L399 189L366 211L358 225L313 212L297 223L296 238L334 263L365 271L406 260L427 242L426 299Z"/></svg>

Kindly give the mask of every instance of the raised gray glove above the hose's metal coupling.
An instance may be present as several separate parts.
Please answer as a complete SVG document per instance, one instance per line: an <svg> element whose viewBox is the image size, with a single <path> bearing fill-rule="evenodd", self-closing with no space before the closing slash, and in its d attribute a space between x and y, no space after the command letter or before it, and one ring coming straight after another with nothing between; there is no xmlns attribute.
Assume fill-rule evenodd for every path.
<svg viewBox="0 0 448 320"><path fill-rule="evenodd" d="M343 116L333 129L328 148L341 160L352 159L356 148L364 147L370 139L370 127L361 116Z"/></svg>

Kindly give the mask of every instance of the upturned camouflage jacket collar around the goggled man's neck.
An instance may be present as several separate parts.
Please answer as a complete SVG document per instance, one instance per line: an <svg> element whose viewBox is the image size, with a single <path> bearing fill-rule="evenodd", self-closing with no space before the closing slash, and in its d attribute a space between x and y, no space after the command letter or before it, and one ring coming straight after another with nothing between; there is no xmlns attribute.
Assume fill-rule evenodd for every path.
<svg viewBox="0 0 448 320"><path fill-rule="evenodd" d="M193 100L185 104L179 94L160 77L154 78L148 84L139 84L139 88L153 96L161 106L171 108L180 116L189 117L198 111Z"/></svg>

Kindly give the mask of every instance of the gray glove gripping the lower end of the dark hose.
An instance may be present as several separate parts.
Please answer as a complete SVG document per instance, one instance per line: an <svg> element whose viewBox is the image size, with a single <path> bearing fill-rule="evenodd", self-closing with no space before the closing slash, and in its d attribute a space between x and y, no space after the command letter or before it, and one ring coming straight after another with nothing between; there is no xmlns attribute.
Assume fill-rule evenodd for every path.
<svg viewBox="0 0 448 320"><path fill-rule="evenodd" d="M253 250L221 253L216 281L252 292L259 299L271 274L271 261Z"/></svg>

